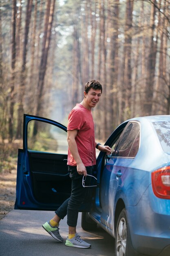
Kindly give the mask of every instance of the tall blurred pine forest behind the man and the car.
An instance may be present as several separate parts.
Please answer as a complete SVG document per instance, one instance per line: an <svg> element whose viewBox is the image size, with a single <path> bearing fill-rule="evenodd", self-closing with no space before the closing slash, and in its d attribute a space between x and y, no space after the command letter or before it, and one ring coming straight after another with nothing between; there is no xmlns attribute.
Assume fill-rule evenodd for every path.
<svg viewBox="0 0 170 256"><path fill-rule="evenodd" d="M170 0L1 0L0 160L24 113L67 125L91 79L102 141L126 119L169 115Z"/></svg>

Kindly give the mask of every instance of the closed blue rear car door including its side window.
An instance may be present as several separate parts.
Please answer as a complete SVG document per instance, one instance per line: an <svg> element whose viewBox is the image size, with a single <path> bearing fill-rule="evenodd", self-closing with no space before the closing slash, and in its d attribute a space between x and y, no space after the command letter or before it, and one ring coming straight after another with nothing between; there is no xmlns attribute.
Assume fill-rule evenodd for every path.
<svg viewBox="0 0 170 256"><path fill-rule="evenodd" d="M101 222L113 229L115 201L119 193L123 193L126 170L130 169L139 148L140 126L137 122L129 122L115 143L113 156L107 161L101 179ZM128 168L127 168L128 166ZM120 195L119 195L120 196Z"/></svg>

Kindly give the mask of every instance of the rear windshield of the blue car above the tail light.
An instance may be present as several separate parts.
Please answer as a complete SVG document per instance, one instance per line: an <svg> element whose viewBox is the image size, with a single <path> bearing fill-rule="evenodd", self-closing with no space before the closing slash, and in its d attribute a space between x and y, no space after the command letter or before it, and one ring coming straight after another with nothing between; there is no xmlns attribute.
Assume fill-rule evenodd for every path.
<svg viewBox="0 0 170 256"><path fill-rule="evenodd" d="M170 155L170 121L153 123L163 150Z"/></svg>

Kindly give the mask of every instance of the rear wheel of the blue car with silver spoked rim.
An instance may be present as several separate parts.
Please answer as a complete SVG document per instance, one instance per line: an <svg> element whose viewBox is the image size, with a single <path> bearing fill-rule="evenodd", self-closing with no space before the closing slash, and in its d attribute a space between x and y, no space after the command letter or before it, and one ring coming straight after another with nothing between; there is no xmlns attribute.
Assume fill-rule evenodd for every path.
<svg viewBox="0 0 170 256"><path fill-rule="evenodd" d="M132 247L126 209L124 208L118 218L115 236L115 256L139 255Z"/></svg>

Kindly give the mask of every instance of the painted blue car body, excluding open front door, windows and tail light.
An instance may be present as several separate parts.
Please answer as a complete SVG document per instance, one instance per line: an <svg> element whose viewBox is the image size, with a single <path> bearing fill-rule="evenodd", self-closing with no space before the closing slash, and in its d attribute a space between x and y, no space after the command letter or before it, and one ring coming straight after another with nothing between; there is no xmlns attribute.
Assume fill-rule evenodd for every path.
<svg viewBox="0 0 170 256"><path fill-rule="evenodd" d="M170 121L170 116L163 116L163 120ZM160 121L161 117L142 117L129 121L140 122L141 142L135 159L129 158L109 158L103 169L103 174L98 176L104 179L99 182L102 189L102 206L96 204L96 210L90 216L98 225L104 228L110 235L115 237L115 211L117 203L121 199L126 206L128 220L131 230L132 246L137 252L150 255L158 255L163 248L170 245L170 200L157 198L153 194L151 185L151 173L163 166L170 165L170 155L165 154L160 146L160 141L156 135L151 121ZM126 123L127 125L127 123ZM116 132L114 132L116 134ZM115 135L114 134L114 135ZM106 142L111 146L112 135ZM145 145L145 142L147 144ZM141 161L141 157L145 161ZM100 161L101 164L101 161ZM101 170L99 168L99 170ZM121 177L117 177L118 171ZM107 184L107 186L104 184ZM108 185L109 184L109 185ZM148 191L150 191L148 193ZM97 193L100 193L99 190ZM146 195L147 194L147 195ZM147 209L144 206L147 206ZM149 210L148 210L149 209ZM136 218L136 216L139 216ZM140 220L144 220L145 223ZM163 219L166 222L163 222ZM134 221L135 220L135 221ZM155 220L159 225L155 225ZM162 230L162 222L163 230ZM154 228L150 230L150 225ZM157 227L155 227L157 226ZM163 240L163 243L162 243ZM157 243L157 246L154 244ZM153 246L154 245L154 246Z"/></svg>

